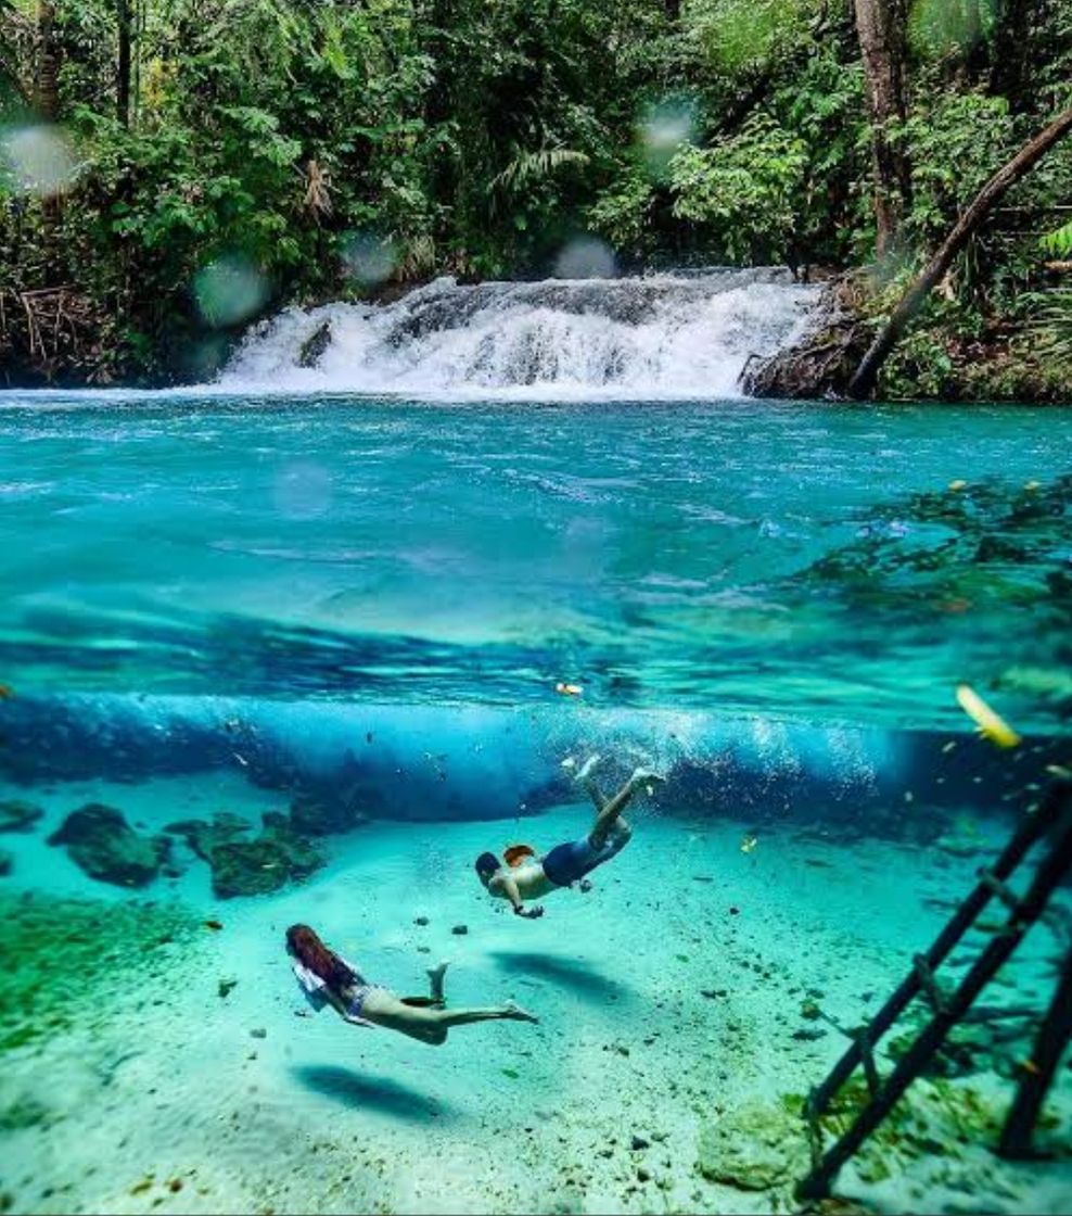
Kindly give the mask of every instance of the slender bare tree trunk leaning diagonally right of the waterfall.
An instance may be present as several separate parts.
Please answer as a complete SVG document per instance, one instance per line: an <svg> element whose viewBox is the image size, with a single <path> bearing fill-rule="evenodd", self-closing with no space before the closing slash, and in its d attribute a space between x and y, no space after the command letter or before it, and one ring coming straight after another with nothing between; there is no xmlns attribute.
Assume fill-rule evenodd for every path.
<svg viewBox="0 0 1072 1216"><path fill-rule="evenodd" d="M915 314L923 308L931 288L942 278L953 263L953 259L987 218L994 203L1002 198L1010 186L1015 185L1029 169L1034 168L1036 162L1040 161L1070 131L1072 131L1072 109L1066 109L1045 130L1039 131L1033 140L1026 143L976 195L975 201L957 221L953 231L946 237L938 252L901 297L901 302L893 309L890 320L879 331L848 384L850 396L861 400L871 393L879 378L879 371L886 361L886 356L896 345L897 339Z"/></svg>

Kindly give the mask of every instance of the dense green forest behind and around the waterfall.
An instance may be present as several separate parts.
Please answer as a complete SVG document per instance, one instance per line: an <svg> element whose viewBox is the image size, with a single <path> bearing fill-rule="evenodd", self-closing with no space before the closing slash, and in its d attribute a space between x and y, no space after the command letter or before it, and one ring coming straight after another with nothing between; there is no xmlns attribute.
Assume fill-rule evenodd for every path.
<svg viewBox="0 0 1072 1216"><path fill-rule="evenodd" d="M1068 106L1072 0L0 0L0 360L198 377L438 274L868 266L879 316ZM1070 259L1065 141L887 388L975 342L1045 393Z"/></svg>

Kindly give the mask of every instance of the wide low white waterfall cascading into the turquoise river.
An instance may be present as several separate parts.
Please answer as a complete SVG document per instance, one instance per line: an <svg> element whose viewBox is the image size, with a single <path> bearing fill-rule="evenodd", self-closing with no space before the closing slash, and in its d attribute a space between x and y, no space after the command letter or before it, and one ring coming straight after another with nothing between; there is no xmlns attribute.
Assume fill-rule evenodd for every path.
<svg viewBox="0 0 1072 1216"><path fill-rule="evenodd" d="M226 390L732 398L749 356L807 321L816 288L775 269L459 286L394 304L290 308L244 339Z"/></svg>

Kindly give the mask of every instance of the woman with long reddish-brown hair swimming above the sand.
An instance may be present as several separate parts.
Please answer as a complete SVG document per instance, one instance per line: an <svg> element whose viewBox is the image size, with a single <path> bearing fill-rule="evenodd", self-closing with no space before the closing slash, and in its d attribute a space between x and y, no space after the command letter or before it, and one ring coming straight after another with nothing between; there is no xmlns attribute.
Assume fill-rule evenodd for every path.
<svg viewBox="0 0 1072 1216"><path fill-rule="evenodd" d="M493 1008L446 1009L442 978L446 963L429 968L430 995L395 996L390 989L369 981L344 958L329 950L308 924L287 930L287 953L294 976L309 1003L320 1012L326 1004L351 1026L397 1030L422 1043L439 1046L451 1026L474 1021L538 1021L512 1001Z"/></svg>

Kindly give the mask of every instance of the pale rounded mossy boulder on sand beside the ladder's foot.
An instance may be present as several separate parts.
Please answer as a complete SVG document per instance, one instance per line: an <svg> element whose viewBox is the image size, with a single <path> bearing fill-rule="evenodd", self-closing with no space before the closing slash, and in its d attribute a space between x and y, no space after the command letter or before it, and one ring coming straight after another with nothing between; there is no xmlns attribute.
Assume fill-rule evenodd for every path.
<svg viewBox="0 0 1072 1216"><path fill-rule="evenodd" d="M749 1103L700 1127L696 1167L710 1182L767 1190L808 1171L803 1121L782 1107Z"/></svg>

